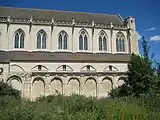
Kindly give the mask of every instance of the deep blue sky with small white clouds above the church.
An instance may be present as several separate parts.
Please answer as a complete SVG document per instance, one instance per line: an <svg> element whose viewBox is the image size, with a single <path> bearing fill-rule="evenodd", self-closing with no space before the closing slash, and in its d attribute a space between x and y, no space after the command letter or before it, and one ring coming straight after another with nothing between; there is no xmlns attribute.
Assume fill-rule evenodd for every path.
<svg viewBox="0 0 160 120"><path fill-rule="evenodd" d="M160 61L160 0L0 0L0 6L133 16L140 53L141 36L145 36L150 56L155 54L154 59Z"/></svg>

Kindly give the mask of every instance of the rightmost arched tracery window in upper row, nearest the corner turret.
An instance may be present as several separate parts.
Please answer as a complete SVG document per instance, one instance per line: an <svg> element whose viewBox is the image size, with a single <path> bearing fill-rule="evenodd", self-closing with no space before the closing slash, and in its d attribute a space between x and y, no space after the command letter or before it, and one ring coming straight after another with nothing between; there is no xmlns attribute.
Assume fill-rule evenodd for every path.
<svg viewBox="0 0 160 120"><path fill-rule="evenodd" d="M121 32L116 36L116 51L125 52L125 37Z"/></svg>

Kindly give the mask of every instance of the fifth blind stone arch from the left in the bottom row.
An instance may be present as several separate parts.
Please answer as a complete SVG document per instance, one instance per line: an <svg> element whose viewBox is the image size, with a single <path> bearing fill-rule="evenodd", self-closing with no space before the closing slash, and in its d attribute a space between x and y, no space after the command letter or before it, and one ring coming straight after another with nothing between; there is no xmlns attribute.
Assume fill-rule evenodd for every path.
<svg viewBox="0 0 160 120"><path fill-rule="evenodd" d="M95 78L89 77L86 79L83 94L86 96L97 97L97 81Z"/></svg>

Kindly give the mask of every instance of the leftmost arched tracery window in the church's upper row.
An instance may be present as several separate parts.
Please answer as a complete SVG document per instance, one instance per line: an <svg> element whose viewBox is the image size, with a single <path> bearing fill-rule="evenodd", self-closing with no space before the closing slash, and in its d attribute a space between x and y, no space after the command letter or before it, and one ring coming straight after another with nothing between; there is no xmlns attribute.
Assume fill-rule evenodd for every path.
<svg viewBox="0 0 160 120"><path fill-rule="evenodd" d="M24 32L21 29L15 33L14 48L24 48Z"/></svg>

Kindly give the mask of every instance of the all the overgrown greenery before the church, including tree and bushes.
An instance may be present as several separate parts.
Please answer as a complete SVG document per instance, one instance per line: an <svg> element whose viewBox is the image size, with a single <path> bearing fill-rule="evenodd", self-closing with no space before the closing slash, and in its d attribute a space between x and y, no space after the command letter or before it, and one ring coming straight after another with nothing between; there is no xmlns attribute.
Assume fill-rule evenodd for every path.
<svg viewBox="0 0 160 120"><path fill-rule="evenodd" d="M144 37L142 45L143 56L132 54L128 79L112 98L58 95L31 102L0 82L0 120L160 120L160 64L153 65Z"/></svg>

